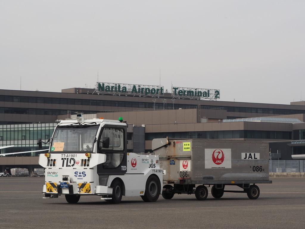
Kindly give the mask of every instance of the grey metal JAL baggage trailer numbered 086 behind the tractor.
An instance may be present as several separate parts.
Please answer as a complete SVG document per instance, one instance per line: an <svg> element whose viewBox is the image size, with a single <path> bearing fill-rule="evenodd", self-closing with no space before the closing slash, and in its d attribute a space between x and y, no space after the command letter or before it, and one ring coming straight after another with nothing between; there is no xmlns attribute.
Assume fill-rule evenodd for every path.
<svg viewBox="0 0 305 229"><path fill-rule="evenodd" d="M214 198L221 198L224 192L237 192L257 199L260 189L256 184L272 183L267 142L160 138L152 140L152 150L166 171L162 191L165 199L184 193L205 200L206 186L212 186ZM242 190L225 190L227 185Z"/></svg>

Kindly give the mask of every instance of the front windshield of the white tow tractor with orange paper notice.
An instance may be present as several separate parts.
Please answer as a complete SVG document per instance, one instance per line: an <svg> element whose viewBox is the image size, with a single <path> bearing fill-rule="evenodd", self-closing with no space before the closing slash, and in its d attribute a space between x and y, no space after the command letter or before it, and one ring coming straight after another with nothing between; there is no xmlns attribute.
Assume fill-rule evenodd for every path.
<svg viewBox="0 0 305 229"><path fill-rule="evenodd" d="M51 151L93 151L93 141L99 125L57 126Z"/></svg>

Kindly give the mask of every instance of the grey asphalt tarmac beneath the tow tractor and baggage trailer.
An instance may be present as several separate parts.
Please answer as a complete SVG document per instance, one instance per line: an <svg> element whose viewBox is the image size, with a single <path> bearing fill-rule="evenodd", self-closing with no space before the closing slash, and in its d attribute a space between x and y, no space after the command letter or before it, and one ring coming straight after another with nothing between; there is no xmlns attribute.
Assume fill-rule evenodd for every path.
<svg viewBox="0 0 305 229"><path fill-rule="evenodd" d="M44 177L0 178L0 228L305 228L305 178L272 178L257 184L260 197L245 193L175 195L145 203L123 197L117 205L98 196L81 197L68 204L64 196L42 199ZM237 188L236 190L238 190Z"/></svg>

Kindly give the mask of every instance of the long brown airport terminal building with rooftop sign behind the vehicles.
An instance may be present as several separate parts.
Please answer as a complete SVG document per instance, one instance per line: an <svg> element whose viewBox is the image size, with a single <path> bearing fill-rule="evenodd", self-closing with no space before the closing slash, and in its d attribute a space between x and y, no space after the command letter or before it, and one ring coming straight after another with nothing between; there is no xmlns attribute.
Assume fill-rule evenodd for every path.
<svg viewBox="0 0 305 229"><path fill-rule="evenodd" d="M168 136L272 141L272 159L305 154L304 101L284 105L219 99L217 89L172 87L168 92L161 86L115 83L61 93L0 90L0 146L15 145L1 153L37 150L37 140L52 136L56 120L81 112L84 118L123 117L129 124L127 149L134 152L150 152L152 139ZM0 170L38 168L37 155L0 157Z"/></svg>

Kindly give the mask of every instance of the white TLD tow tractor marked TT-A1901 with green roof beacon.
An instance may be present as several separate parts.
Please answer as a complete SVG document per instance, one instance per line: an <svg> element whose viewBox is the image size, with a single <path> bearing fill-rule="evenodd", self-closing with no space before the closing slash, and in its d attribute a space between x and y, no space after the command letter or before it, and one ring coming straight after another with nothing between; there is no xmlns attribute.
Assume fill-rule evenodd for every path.
<svg viewBox="0 0 305 229"><path fill-rule="evenodd" d="M161 194L159 156L127 153L122 118L61 121L50 143L48 153L39 155L45 168L44 198L65 195L67 202L77 203L81 196L99 195L120 203L124 195L154 202Z"/></svg>

